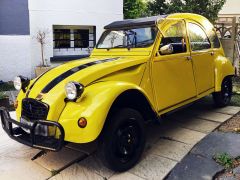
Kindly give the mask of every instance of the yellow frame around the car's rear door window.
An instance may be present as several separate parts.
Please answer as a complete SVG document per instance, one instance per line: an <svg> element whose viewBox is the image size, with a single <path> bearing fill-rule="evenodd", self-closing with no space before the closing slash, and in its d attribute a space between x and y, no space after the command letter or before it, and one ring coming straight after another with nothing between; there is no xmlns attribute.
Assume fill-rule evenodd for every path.
<svg viewBox="0 0 240 180"><path fill-rule="evenodd" d="M206 48L206 49L199 49L199 50L193 50L192 49L192 45L191 45L191 37L190 37L190 28L189 28L189 24L194 24L196 26L198 26L206 35L208 43L210 44L210 48ZM189 41L189 48L191 50L191 52L201 52L201 51L206 51L206 50L210 50L212 49L212 42L210 41L208 34L206 33L205 29L203 28L203 26L195 21L187 21L187 36L188 36L188 41Z"/></svg>

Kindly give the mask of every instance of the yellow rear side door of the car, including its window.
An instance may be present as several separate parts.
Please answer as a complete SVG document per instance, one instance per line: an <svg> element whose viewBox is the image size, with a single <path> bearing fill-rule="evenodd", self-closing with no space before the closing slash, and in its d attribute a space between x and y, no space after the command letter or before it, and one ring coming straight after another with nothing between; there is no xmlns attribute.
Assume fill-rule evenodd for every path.
<svg viewBox="0 0 240 180"><path fill-rule="evenodd" d="M214 87L214 52L201 25L188 21L187 29L197 93L201 94Z"/></svg>

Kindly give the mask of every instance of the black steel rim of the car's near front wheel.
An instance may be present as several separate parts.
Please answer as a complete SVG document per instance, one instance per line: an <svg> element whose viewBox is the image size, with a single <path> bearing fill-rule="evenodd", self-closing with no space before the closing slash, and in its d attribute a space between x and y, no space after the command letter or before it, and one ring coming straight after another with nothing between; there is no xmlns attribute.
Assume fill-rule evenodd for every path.
<svg viewBox="0 0 240 180"><path fill-rule="evenodd" d="M119 126L113 139L113 152L122 163L127 163L136 155L141 140L140 127L134 119Z"/></svg>

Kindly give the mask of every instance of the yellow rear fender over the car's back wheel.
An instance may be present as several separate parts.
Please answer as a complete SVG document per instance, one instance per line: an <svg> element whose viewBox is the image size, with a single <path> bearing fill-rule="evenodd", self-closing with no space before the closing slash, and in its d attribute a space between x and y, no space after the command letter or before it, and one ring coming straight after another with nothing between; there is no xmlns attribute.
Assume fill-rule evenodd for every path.
<svg viewBox="0 0 240 180"><path fill-rule="evenodd" d="M234 76L235 69L229 59L219 56L215 60L215 91L221 91L222 81L226 76Z"/></svg>

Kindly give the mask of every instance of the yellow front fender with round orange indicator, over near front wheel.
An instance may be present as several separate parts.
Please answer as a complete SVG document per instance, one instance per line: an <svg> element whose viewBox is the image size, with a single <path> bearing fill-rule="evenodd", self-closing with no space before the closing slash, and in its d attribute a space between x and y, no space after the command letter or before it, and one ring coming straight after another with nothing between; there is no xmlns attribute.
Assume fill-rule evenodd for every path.
<svg viewBox="0 0 240 180"><path fill-rule="evenodd" d="M75 143L94 141L103 129L115 99L130 89L137 89L148 98L143 89L132 83L107 81L86 87L82 97L77 102L66 104L58 121L65 130L65 140ZM85 128L78 126L80 117L87 119Z"/></svg>

